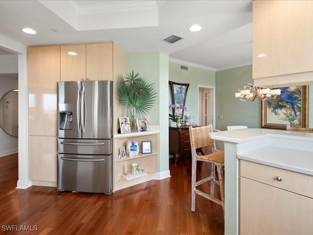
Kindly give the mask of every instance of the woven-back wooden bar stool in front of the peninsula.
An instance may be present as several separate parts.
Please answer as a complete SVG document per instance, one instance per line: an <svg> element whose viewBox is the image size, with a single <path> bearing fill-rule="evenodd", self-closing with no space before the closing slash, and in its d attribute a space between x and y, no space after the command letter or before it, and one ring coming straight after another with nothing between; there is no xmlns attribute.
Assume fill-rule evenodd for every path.
<svg viewBox="0 0 313 235"><path fill-rule="evenodd" d="M222 206L224 213L224 151L217 150L215 141L209 136L213 132L211 124L208 126L189 127L191 154L192 154L192 174L191 174L191 211L195 211L196 194L201 195ZM211 147L210 154L202 155L196 150L202 147ZM210 176L197 181L197 162L207 162L212 164ZM215 169L217 168L218 181L215 179ZM210 182L210 194L204 193L197 187L203 183ZM221 190L221 200L214 197L214 185L219 185Z"/></svg>

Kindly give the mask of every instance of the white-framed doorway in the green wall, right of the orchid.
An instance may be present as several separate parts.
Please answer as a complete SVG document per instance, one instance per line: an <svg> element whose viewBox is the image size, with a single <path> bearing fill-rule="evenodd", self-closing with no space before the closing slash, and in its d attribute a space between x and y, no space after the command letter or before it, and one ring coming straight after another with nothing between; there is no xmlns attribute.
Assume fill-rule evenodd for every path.
<svg viewBox="0 0 313 235"><path fill-rule="evenodd" d="M199 125L212 124L215 129L215 87L198 87Z"/></svg>

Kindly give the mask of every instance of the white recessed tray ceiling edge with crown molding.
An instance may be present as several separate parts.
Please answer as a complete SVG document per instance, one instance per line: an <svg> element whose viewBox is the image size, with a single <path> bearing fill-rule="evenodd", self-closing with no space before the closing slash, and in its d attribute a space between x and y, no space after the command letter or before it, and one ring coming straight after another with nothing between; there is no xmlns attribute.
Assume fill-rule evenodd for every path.
<svg viewBox="0 0 313 235"><path fill-rule="evenodd" d="M158 25L155 0L101 1L84 5L79 5L76 0L39 2L77 31Z"/></svg>

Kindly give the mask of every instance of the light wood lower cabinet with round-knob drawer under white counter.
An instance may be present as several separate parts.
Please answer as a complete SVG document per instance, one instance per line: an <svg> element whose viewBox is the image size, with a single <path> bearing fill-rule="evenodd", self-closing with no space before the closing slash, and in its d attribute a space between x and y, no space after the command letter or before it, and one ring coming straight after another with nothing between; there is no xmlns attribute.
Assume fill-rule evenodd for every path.
<svg viewBox="0 0 313 235"><path fill-rule="evenodd" d="M246 161L240 161L240 172L241 235L313 233L312 189L307 190L312 188L312 176ZM279 183L285 189L277 187Z"/></svg>

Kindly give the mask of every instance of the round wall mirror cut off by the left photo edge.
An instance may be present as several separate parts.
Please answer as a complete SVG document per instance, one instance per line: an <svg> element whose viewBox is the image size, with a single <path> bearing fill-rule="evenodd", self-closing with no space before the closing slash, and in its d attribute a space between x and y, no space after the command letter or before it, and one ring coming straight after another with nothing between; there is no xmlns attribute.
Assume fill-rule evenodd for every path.
<svg viewBox="0 0 313 235"><path fill-rule="evenodd" d="M0 127L8 135L18 137L18 90L4 94L0 99Z"/></svg>

